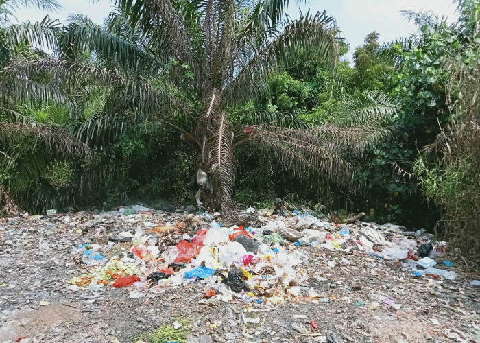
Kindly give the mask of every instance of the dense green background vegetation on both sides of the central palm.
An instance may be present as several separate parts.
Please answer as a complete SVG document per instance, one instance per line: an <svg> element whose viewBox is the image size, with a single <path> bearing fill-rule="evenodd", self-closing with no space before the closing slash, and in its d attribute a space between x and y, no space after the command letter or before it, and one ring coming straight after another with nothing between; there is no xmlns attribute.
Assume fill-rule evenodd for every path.
<svg viewBox="0 0 480 343"><path fill-rule="evenodd" d="M136 200L195 203L198 165L184 135L194 121L170 105L181 100L202 108L197 71L175 54L163 54L152 28L139 20L146 14L139 10L135 16L123 2L98 26L83 16L12 25L8 19L17 5L54 10L56 1L0 1L4 212L108 208ZM200 41L198 9L189 7L196 2L171 1ZM254 3L235 18L239 32L251 29L253 36L280 23L283 8L268 5L284 1ZM355 48L352 65L319 56L309 45L292 45L295 58L276 60L261 93L226 105L232 128L245 135L269 126L291 132L328 128L328 139L352 137L355 146L331 146L352 169L352 183L314 165L294 172L288 165L295 158L283 158L287 152L279 155L252 141L232 155L236 202L266 206L279 197L311 208L322 204L324 211L365 211L370 220L435 227L463 255L478 257L480 4L457 4L455 23L430 12L405 12L417 34L382 44L372 32ZM263 5L262 18L272 27L254 26ZM301 21L328 27L339 56L349 49L326 14ZM268 43L274 36L266 37ZM38 47L53 50L53 59ZM137 75L167 90L165 98L152 97L169 104L168 119L139 110L142 100L134 98L130 81L123 83L127 88L115 86ZM322 137L322 146L329 147Z"/></svg>

